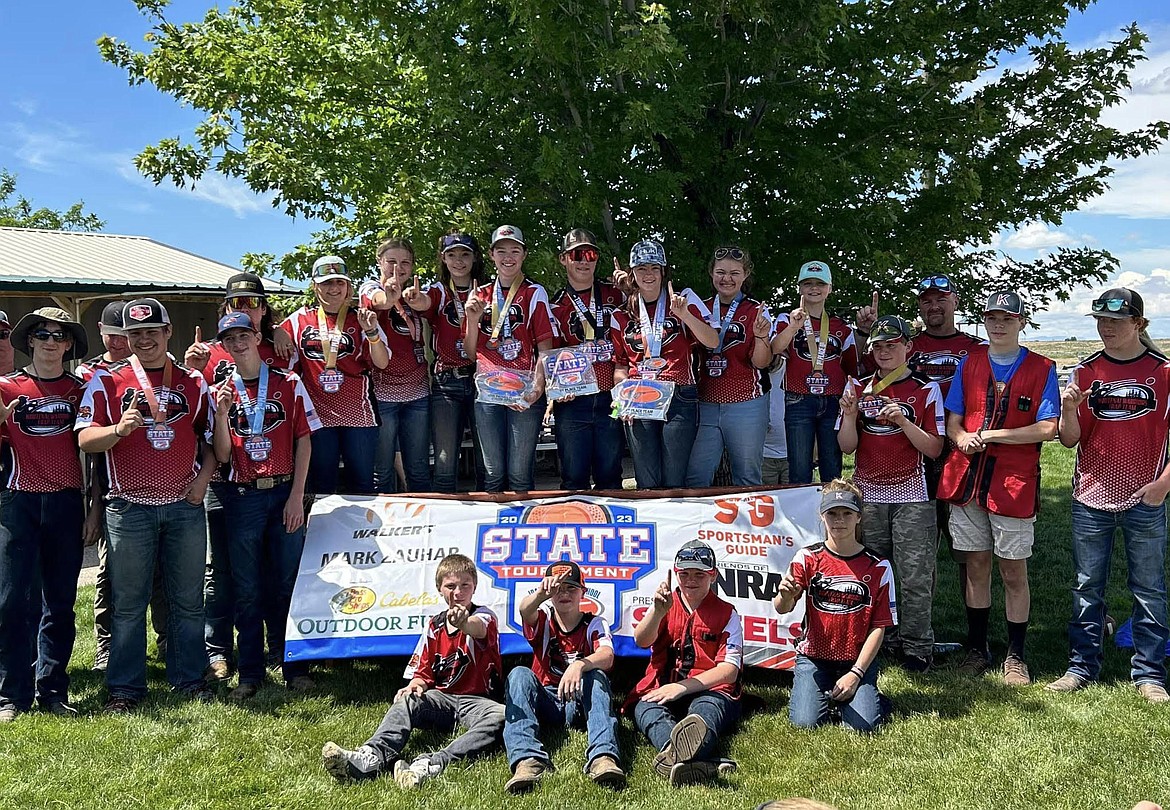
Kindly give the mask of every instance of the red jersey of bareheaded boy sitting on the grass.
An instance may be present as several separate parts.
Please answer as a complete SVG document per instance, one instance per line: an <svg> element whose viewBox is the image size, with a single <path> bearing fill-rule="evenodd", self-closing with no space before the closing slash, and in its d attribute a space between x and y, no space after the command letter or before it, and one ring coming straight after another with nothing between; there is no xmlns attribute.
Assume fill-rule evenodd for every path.
<svg viewBox="0 0 1170 810"><path fill-rule="evenodd" d="M483 619L488 634L474 639L459 630L449 632L447 611L432 616L406 665L406 678L418 678L447 694L498 695L503 688L503 663L496 615L475 605L469 611Z"/></svg>

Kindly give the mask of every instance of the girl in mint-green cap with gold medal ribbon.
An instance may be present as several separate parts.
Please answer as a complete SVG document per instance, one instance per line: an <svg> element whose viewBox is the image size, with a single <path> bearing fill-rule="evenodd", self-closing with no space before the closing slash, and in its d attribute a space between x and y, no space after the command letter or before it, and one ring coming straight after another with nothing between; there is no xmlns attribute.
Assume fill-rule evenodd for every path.
<svg viewBox="0 0 1170 810"><path fill-rule="evenodd" d="M784 426L789 482L812 483L813 446L821 481L841 474L837 414L845 380L858 375L858 345L845 321L825 311L833 274L821 261L805 262L797 276L800 306L776 318L772 351L787 362Z"/></svg>

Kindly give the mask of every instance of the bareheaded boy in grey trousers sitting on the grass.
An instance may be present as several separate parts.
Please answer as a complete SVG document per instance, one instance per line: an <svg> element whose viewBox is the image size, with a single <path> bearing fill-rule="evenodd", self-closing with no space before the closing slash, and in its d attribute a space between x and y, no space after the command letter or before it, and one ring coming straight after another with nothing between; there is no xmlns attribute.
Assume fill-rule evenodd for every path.
<svg viewBox="0 0 1170 810"><path fill-rule="evenodd" d="M374 778L393 766L401 788L417 788L456 760L480 754L500 740L504 707L498 694L502 665L496 616L472 603L477 572L462 554L439 561L435 585L447 610L427 623L411 657L411 682L398 691L378 730L357 750L333 742L321 749L325 770L340 782ZM413 670L413 672L412 672ZM411 764L400 758L413 728L467 730L440 751Z"/></svg>

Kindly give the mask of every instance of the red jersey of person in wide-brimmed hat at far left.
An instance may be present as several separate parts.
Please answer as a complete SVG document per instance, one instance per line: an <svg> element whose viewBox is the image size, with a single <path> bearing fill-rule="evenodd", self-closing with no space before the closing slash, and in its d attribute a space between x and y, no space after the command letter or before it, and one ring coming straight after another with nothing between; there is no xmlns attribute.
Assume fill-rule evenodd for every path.
<svg viewBox="0 0 1170 810"><path fill-rule="evenodd" d="M0 453L4 486L16 492L81 489L81 455L74 420L85 385L66 373L37 379L23 370L0 377L0 397L11 409Z"/></svg>

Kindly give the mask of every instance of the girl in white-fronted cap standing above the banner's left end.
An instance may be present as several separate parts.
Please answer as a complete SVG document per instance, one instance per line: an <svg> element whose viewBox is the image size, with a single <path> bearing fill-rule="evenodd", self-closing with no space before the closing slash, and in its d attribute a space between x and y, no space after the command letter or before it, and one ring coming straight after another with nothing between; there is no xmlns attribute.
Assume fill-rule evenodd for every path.
<svg viewBox="0 0 1170 810"><path fill-rule="evenodd" d="M309 489L337 492L338 461L344 459L346 492L372 494L378 406L370 373L390 364L386 338L377 313L350 308L353 286L344 260L315 261L312 291L317 306L302 307L280 325L297 346L294 370L322 424L312 434Z"/></svg>

